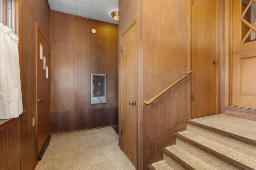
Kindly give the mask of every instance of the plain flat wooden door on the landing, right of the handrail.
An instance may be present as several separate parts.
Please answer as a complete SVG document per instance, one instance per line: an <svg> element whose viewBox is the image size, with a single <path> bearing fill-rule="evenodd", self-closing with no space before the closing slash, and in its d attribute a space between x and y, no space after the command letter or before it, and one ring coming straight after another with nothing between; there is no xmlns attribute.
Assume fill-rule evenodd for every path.
<svg viewBox="0 0 256 170"><path fill-rule="evenodd" d="M191 14L191 117L216 113L216 0L194 0Z"/></svg>

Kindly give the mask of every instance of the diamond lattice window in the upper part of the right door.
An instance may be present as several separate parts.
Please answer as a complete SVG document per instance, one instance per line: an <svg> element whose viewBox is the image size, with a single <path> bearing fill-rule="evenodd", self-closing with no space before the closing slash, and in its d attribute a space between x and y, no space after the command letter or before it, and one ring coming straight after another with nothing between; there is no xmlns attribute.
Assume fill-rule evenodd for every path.
<svg viewBox="0 0 256 170"><path fill-rule="evenodd" d="M241 20L241 38L244 43L254 41L256 36L253 30L250 31L252 27L256 28L256 3L252 1L248 8L250 1L252 0L242 0L242 15L244 14L242 18L244 20ZM248 32L250 32L249 35Z"/></svg>

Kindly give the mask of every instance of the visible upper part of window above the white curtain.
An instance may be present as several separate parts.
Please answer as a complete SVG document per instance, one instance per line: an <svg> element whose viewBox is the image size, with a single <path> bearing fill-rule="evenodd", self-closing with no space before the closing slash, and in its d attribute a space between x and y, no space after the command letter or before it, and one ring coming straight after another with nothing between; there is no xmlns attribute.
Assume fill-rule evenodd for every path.
<svg viewBox="0 0 256 170"><path fill-rule="evenodd" d="M18 0L0 0L0 23L18 34Z"/></svg>

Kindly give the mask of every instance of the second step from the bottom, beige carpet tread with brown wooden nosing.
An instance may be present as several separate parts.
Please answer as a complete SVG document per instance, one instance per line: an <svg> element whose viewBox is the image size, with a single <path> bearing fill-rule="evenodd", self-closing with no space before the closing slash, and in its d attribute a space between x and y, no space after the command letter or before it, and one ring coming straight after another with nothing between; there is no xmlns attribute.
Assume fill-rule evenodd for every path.
<svg viewBox="0 0 256 170"><path fill-rule="evenodd" d="M162 149L166 156L172 158L184 169L189 170L218 170L214 166L207 164L197 156L187 152L178 145L172 145ZM167 162L167 161L166 161Z"/></svg>

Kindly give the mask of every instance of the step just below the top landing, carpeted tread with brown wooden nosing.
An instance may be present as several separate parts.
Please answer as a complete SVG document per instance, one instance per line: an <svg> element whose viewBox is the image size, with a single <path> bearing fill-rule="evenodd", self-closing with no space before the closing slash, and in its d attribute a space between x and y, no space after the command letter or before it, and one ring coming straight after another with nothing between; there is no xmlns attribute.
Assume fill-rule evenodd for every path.
<svg viewBox="0 0 256 170"><path fill-rule="evenodd" d="M214 140L203 137L197 132L183 131L175 134L175 137L181 139L190 145L193 145L207 153L210 153L220 160L238 168L255 169L256 159L248 154L239 152ZM214 136L212 138L215 138ZM217 138L217 136L216 136ZM239 146L238 146L239 147Z"/></svg>

